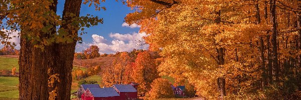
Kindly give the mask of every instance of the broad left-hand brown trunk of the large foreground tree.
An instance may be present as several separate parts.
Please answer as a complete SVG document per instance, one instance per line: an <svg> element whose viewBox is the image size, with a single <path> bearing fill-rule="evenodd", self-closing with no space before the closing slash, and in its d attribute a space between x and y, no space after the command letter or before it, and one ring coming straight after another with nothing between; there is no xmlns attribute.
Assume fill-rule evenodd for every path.
<svg viewBox="0 0 301 100"><path fill-rule="evenodd" d="M56 12L57 0L50 5ZM21 26L21 28L26 26ZM53 33L56 33L55 28ZM41 38L48 34L41 33ZM44 50L34 47L26 33L21 30L19 56L19 99L48 99L48 68L53 67L53 45L46 45Z"/></svg>

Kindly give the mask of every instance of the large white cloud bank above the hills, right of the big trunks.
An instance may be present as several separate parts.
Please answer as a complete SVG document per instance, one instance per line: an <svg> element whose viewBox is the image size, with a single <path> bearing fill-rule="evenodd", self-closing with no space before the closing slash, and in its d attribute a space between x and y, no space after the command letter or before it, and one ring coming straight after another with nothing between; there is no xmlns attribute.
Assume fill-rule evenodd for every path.
<svg viewBox="0 0 301 100"><path fill-rule="evenodd" d="M146 36L145 33L110 33L109 37L112 39L108 41L103 36L93 34L93 42L88 44L77 44L77 51L79 48L85 49L88 45L97 45L100 53L115 53L117 51L131 51L133 48L135 49L146 49L148 48L147 44L143 44L140 41L143 41L142 37ZM143 44L143 45L142 45Z"/></svg>

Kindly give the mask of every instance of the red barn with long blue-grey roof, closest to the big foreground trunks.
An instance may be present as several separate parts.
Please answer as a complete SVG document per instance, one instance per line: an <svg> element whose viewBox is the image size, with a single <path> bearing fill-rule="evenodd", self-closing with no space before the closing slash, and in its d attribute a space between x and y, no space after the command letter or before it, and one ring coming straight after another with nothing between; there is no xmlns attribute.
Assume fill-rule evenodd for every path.
<svg viewBox="0 0 301 100"><path fill-rule="evenodd" d="M120 95L114 88L88 88L82 95L82 100L119 100Z"/></svg>

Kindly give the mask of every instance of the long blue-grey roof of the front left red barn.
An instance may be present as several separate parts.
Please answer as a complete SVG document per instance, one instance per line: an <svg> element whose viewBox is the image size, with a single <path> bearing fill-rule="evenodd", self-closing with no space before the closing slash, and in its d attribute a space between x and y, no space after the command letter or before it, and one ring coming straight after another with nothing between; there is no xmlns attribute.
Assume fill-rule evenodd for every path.
<svg viewBox="0 0 301 100"><path fill-rule="evenodd" d="M94 97L120 96L114 88L89 88Z"/></svg>

